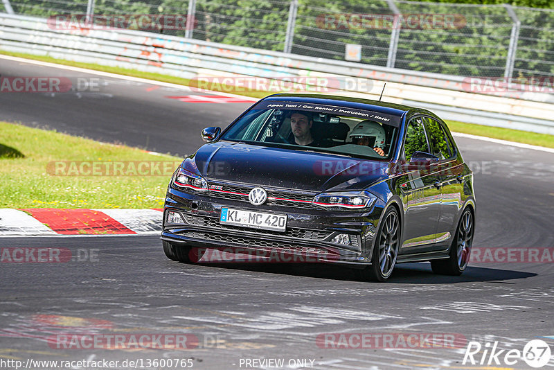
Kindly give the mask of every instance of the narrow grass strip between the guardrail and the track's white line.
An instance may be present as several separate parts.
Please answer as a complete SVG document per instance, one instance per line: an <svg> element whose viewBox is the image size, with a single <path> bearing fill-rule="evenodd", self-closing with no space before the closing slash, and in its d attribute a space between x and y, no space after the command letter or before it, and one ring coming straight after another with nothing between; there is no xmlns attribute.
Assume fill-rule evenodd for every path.
<svg viewBox="0 0 554 370"><path fill-rule="evenodd" d="M195 82L196 82L195 80L163 75L161 73L136 71L134 69L124 69L120 67L108 67L108 66L102 66L100 64L72 62L69 60L55 59L55 58L42 56L42 55L12 53L8 51L0 51L0 54L12 55L20 58L28 58L33 60L42 60L43 62L64 64L72 67L94 69L96 71L105 71L105 72L116 73L124 76L133 76L133 77L147 78L150 80L157 80L162 82L170 82L178 85L195 86ZM233 94L251 96L253 98L263 98L269 95L267 91L258 91L258 90L251 90L251 89L250 90L244 89L244 91L240 91L240 90L236 91L236 90L237 89L235 89L234 87L231 87L228 85L221 85L221 89L219 89L218 91L233 92ZM554 148L554 135L536 134L534 132L510 130L506 128L483 126L483 125L474 125L471 123L462 123L462 122L456 122L456 121L447 121L447 124L450 127L450 130L455 132L463 132L465 134L487 136L494 139L502 139L502 140L508 140L508 141L515 141L517 143L526 143L526 144L535 145L535 146Z"/></svg>

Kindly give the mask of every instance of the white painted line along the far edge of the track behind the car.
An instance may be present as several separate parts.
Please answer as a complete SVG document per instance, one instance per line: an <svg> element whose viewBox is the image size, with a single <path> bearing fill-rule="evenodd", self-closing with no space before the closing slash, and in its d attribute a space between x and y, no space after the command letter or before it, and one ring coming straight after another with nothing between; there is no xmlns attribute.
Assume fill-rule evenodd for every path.
<svg viewBox="0 0 554 370"><path fill-rule="evenodd" d="M139 78L139 77L131 77L131 76L123 76L118 75L116 73L109 73L109 72L102 72L102 71L95 71L93 69L86 69L86 68L79 68L79 67L70 67L70 66L64 66L63 64L55 64L55 63L49 63L49 62L41 62L39 60L32 60L32 59L25 59L25 58L19 58L19 57L12 57L10 55L1 55L1 59L7 59L7 60L13 60L15 62L22 62L22 63L29 63L29 64L37 64L39 66L44 67L52 67L52 68L58 68L58 69L66 69L67 71L75 71L75 72L82 72L82 73L90 73L97 76L105 76L105 77L111 77L111 78L119 78L120 80L129 80L129 81L136 81L136 82L143 82L148 83L150 85L159 85L159 86L165 86L165 87L173 87L175 89L181 89L186 91L191 91L190 87L184 86L184 85L177 85L172 84L169 82L161 82L156 80L148 80L147 78ZM198 89L200 90L200 89ZM219 96L230 96L233 98L243 98L246 100L252 100L253 102L258 101L260 99L257 98L251 98L250 96L244 96L244 95L236 95L236 94L229 94L224 93L220 91L212 91L212 90L203 90L206 91L209 94L213 95L219 95ZM553 148L544 148L542 146L532 146L529 144L524 143L515 143L514 141L507 141L507 140L500 140L500 139L491 139L489 137L485 136L477 136L477 135L470 135L470 134L462 134L461 132L452 132L454 136L459 137L465 137L467 139L474 139L474 140L481 140L481 141L489 141L490 143L497 143L501 145L506 146L515 146L517 148L524 148L524 149L532 149L532 150L542 150L544 152L550 152L554 153Z"/></svg>

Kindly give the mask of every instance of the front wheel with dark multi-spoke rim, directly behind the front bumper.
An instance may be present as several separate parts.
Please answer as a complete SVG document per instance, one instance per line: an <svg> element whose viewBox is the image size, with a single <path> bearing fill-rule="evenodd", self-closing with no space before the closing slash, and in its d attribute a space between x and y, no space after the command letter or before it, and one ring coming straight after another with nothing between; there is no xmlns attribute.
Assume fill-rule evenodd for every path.
<svg viewBox="0 0 554 370"><path fill-rule="evenodd" d="M384 214L375 238L371 265L355 273L364 281L384 282L393 273L400 249L400 218L394 207Z"/></svg>

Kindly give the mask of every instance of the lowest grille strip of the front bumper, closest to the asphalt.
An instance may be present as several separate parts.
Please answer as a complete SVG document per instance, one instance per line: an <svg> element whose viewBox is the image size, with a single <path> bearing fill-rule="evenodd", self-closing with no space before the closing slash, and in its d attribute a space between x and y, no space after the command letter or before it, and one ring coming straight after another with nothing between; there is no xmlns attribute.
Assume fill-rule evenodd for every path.
<svg viewBox="0 0 554 370"><path fill-rule="evenodd" d="M235 245L241 245L244 247L252 247L255 249L267 249L272 252L294 252L301 254L325 254L328 256L338 256L339 254L332 252L328 249L308 247L306 245L298 245L294 243L274 242L272 240L258 240L253 238L247 238L242 236L230 236L221 234L203 233L198 231L186 232L186 236L190 238L211 240L223 243L233 243Z"/></svg>

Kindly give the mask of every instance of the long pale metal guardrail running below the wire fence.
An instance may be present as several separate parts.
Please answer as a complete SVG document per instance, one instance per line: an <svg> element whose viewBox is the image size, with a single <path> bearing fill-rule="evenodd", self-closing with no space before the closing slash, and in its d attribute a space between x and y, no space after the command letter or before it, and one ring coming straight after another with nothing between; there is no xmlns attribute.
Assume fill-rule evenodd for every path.
<svg viewBox="0 0 554 370"><path fill-rule="evenodd" d="M464 79L310 58L159 35L136 30L50 28L46 19L0 13L0 49L53 58L165 73L198 76L326 76L365 80L364 89L341 85L339 94L377 98L387 82L384 100L426 107L445 119L554 134L553 97L521 92L521 98L469 93ZM329 73L332 71L332 74Z"/></svg>

